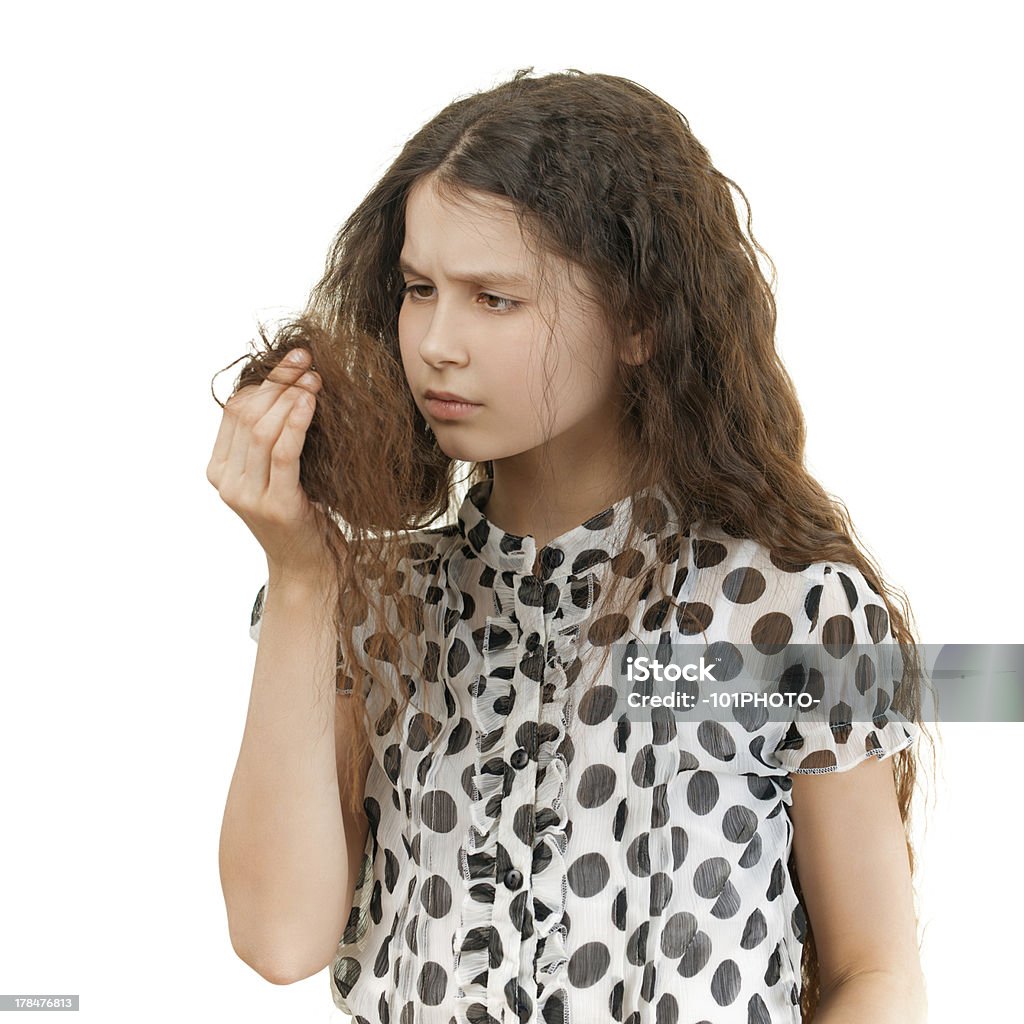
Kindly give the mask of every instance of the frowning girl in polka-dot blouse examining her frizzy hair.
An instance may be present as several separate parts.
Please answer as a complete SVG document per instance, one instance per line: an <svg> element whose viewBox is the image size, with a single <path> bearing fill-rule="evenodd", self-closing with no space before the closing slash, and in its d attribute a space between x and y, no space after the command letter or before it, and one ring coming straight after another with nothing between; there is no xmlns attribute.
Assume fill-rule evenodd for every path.
<svg viewBox="0 0 1024 1024"><path fill-rule="evenodd" d="M360 1024L924 1020L909 610L803 465L774 268L678 111L531 71L407 143L224 407L232 944ZM640 644L788 702L635 710Z"/></svg>

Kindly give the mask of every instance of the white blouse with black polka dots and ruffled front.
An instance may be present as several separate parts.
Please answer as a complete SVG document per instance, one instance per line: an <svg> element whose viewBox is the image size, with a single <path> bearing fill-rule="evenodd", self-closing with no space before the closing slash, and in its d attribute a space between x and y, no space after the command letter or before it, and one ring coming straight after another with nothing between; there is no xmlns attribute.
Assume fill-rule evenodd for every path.
<svg viewBox="0 0 1024 1024"><path fill-rule="evenodd" d="M847 651L891 645L884 602L851 565L784 566L755 542L681 528L656 488L552 541L539 579L534 538L481 511L490 485L410 547L406 586L437 654L408 669L410 707L399 717L365 688L370 830L335 1005L359 1024L799 1022L807 918L787 869L788 776L909 745L892 673L840 673L874 708L866 721L835 695L806 725L797 711L627 718L609 667L578 697L578 651L595 637L741 648L781 631L830 644L843 668ZM631 516L639 551L624 549ZM654 561L678 611L652 593L632 622L595 630L606 574Z"/></svg>

